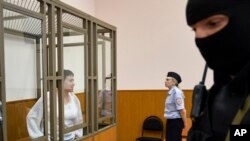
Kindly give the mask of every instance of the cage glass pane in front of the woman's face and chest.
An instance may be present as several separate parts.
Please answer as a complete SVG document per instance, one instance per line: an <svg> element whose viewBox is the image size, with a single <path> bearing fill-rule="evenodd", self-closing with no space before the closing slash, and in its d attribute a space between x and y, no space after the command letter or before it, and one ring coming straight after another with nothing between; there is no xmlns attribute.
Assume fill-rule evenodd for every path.
<svg viewBox="0 0 250 141"><path fill-rule="evenodd" d="M85 36L85 33L63 28L64 70L70 70L74 74L73 77L69 77L68 73L65 74L64 72L64 91L72 89L70 98L71 101L75 100L74 104L64 101L65 128L79 124L84 125L74 131L77 137L83 136L83 129L84 131L87 130ZM72 82L69 82L70 79Z"/></svg>

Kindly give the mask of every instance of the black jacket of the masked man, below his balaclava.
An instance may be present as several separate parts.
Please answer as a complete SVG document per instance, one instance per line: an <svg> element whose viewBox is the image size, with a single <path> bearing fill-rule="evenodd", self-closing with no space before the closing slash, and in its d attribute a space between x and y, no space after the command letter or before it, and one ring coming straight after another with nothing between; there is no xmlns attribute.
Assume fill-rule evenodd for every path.
<svg viewBox="0 0 250 141"><path fill-rule="evenodd" d="M250 63L231 79L215 73L203 114L192 124L188 141L224 141L237 111L250 94ZM250 124L250 109L241 120Z"/></svg>

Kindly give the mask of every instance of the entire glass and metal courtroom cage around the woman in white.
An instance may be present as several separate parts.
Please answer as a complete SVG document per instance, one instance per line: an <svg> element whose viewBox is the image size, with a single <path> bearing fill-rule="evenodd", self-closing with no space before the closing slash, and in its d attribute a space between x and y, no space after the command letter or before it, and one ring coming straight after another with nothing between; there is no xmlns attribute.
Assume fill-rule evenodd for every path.
<svg viewBox="0 0 250 141"><path fill-rule="evenodd" d="M116 27L59 0L0 0L0 13L0 140L29 138L25 116L38 99L43 135L36 140L82 129L81 140L116 124ZM74 72L82 109L82 123L70 127L64 69ZM15 103L26 107L15 111Z"/></svg>

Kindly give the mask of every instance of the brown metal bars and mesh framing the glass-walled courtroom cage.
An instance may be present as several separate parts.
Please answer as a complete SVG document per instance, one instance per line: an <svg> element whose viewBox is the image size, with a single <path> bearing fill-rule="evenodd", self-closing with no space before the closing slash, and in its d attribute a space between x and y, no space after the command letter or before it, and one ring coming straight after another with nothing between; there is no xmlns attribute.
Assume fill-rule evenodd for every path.
<svg viewBox="0 0 250 141"><path fill-rule="evenodd" d="M59 140L63 140L64 133L87 127L87 136L99 132L97 127L97 91L98 91L98 68L97 66L97 44L98 39L111 42L111 84L112 92L112 124L116 125L116 27L104 21L101 21L91 15L88 15L78 9L75 9L59 0L0 0L0 100L2 101L2 129L3 141L7 141L7 115L6 115L6 83L5 83L5 58L4 58L4 33L21 35L28 38L42 41L43 50L43 91L49 91L50 109L50 134L51 140L57 140L57 115L56 112L56 83L59 83ZM41 22L41 28L37 28L37 22ZM22 25L22 26L20 26ZM86 110L87 123L85 125L76 125L70 128L64 128L64 106L62 94L63 80L63 28L69 28L84 33L85 42L85 92L86 92ZM40 30L41 29L41 30ZM41 34L42 33L42 34ZM55 38L57 37L57 43ZM48 40L48 45L47 45ZM73 46L74 44L68 44ZM58 56L56 58L56 48ZM39 52L39 51L38 51ZM56 62L57 61L57 62ZM40 62L37 58L37 62ZM57 68L55 64L58 64ZM38 69L40 70L40 69ZM58 70L58 74L56 73ZM39 72L40 73L40 72ZM39 79L37 77L37 79ZM39 94L41 96L41 94ZM47 140L48 138L48 115L47 100L44 100L45 106L45 135L36 140ZM54 138L53 138L54 137ZM85 138L79 138L79 140ZM1 140L1 139L0 139Z"/></svg>

